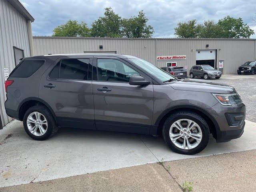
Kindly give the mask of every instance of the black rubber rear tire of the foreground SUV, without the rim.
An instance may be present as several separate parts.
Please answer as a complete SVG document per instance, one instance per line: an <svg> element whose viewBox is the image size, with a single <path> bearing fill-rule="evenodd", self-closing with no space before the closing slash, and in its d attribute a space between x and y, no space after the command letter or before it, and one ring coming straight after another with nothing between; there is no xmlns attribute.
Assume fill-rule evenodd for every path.
<svg viewBox="0 0 256 192"><path fill-rule="evenodd" d="M31 114L32 112L36 112L36 111L43 114L48 123L48 128L46 130L46 133L42 136L33 135L28 130L28 126L27 126L27 118L28 118L29 114ZM42 105L30 107L26 111L24 118L23 118L23 126L24 126L24 129L25 129L26 133L28 134L28 136L30 136L34 140L46 140L47 138L56 134L56 132L58 131L58 127L56 126L56 122L55 122L51 112L48 110L48 108L46 106L42 106Z"/></svg>

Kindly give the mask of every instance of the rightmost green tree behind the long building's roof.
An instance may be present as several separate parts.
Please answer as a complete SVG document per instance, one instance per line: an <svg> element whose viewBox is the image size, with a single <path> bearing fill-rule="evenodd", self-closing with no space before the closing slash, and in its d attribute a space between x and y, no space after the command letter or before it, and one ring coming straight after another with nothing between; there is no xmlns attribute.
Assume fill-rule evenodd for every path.
<svg viewBox="0 0 256 192"><path fill-rule="evenodd" d="M222 38L250 38L254 31L244 23L242 18L226 16L218 21L222 28Z"/></svg>

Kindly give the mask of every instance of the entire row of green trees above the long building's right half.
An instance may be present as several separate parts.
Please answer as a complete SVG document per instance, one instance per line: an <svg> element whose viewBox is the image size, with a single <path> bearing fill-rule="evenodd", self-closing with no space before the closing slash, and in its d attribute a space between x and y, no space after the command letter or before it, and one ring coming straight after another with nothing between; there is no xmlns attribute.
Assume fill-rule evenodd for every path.
<svg viewBox="0 0 256 192"><path fill-rule="evenodd" d="M250 38L254 34L242 18L230 16L220 19L217 24L212 20L204 21L204 24L196 24L196 20L180 22L174 30L180 38Z"/></svg>

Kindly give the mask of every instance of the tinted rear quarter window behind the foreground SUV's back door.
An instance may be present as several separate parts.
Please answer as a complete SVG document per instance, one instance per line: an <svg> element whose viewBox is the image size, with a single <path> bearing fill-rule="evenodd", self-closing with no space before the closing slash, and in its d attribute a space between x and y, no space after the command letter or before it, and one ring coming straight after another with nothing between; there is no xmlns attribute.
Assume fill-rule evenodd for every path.
<svg viewBox="0 0 256 192"><path fill-rule="evenodd" d="M13 70L10 77L29 77L44 64L44 60L24 60Z"/></svg>

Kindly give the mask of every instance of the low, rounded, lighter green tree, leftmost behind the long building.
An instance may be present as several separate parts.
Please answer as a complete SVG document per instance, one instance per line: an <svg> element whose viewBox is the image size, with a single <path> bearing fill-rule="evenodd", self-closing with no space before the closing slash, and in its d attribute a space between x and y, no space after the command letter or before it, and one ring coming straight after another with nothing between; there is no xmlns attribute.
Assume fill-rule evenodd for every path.
<svg viewBox="0 0 256 192"><path fill-rule="evenodd" d="M90 37L90 29L85 22L80 24L76 20L68 20L65 24L57 26L52 36L58 37Z"/></svg>

